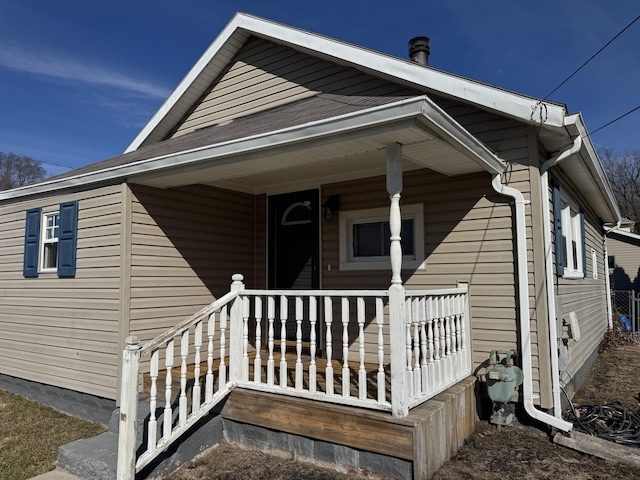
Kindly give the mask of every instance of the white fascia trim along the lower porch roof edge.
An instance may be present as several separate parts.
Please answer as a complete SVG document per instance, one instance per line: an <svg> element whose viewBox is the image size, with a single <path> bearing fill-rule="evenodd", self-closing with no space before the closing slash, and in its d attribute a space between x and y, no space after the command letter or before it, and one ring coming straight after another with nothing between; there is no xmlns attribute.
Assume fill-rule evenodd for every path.
<svg viewBox="0 0 640 480"><path fill-rule="evenodd" d="M261 150L273 152L274 149L277 148L290 148L296 144L308 141L319 141L322 138L329 138L335 135L349 135L367 128L395 128L394 125L403 121L413 122L415 125L417 118L422 117L423 119L427 118L427 120L429 120L429 117L426 117L426 115L431 115L431 118L437 117L437 115L435 115L437 109L438 107L433 104L428 97L414 97L274 132L261 133L259 135L199 147L179 153L161 155L135 163L118 165L74 177L6 190L0 192L0 200L57 191L80 185L113 182L116 179L129 179L140 175L146 176L165 168L173 169L181 166L191 166L200 161L220 159L220 162L233 162L236 157L243 154L256 154ZM461 145L459 149L466 146L467 152L473 154L473 158L476 158L477 162L483 165L488 172L494 172L496 165L502 166L504 169L504 163L486 148L484 152L481 152L483 153L482 157L478 158L478 154L474 154L473 152L480 150L483 147L482 144L478 142L473 135L466 132L455 120L451 117L442 117L440 119L446 123L444 125L436 124L434 120L425 123L441 132L455 135L456 140L452 140L449 143L454 146ZM445 137L445 141L446 140L447 138ZM496 164L496 162L498 163Z"/></svg>

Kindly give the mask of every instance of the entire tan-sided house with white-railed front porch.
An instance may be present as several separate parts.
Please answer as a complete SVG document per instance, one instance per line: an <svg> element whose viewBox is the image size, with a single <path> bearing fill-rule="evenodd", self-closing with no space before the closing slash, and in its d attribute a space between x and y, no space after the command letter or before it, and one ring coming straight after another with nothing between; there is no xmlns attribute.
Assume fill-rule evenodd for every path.
<svg viewBox="0 0 640 480"><path fill-rule="evenodd" d="M0 373L130 412L142 372L148 459L233 391L234 428L331 418L313 438L427 478L473 429L472 373L514 350L518 401L570 430L559 383L607 330L619 219L583 119L412 51L237 14L122 155L0 192Z"/></svg>

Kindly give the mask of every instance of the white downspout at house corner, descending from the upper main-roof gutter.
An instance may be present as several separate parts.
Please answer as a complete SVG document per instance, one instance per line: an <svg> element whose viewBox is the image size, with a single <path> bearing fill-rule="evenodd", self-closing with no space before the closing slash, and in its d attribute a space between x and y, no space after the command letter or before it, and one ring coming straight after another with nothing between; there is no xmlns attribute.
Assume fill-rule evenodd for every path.
<svg viewBox="0 0 640 480"><path fill-rule="evenodd" d="M558 368L558 327L556 324L556 293L553 278L553 258L551 243L551 217L549 214L549 176L548 170L565 158L578 153L582 147L582 137L577 136L573 145L560 154L550 158L540 167L540 188L542 197L542 231L544 236L544 257L547 288L547 316L549 321L549 351L551 353L551 391L553 393L553 413L562 418L562 401L560 400L560 372ZM585 252L586 255L586 252Z"/></svg>

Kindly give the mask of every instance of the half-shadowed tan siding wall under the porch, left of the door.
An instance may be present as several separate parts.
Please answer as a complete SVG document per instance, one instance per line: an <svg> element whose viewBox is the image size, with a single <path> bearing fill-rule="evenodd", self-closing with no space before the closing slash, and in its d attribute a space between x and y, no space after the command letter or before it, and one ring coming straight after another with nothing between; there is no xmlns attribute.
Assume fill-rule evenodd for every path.
<svg viewBox="0 0 640 480"><path fill-rule="evenodd" d="M254 197L190 185L131 186L130 332L149 340L229 290L255 284Z"/></svg>

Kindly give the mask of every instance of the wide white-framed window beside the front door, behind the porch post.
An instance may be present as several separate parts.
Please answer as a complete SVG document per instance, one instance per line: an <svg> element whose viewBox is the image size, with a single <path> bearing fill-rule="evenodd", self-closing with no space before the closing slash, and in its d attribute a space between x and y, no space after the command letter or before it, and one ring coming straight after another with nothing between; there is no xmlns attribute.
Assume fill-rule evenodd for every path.
<svg viewBox="0 0 640 480"><path fill-rule="evenodd" d="M424 268L424 213L422 205L401 208L403 268ZM389 209L340 212L340 269L391 268Z"/></svg>

